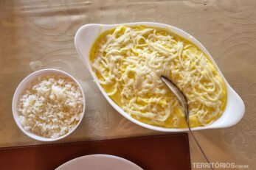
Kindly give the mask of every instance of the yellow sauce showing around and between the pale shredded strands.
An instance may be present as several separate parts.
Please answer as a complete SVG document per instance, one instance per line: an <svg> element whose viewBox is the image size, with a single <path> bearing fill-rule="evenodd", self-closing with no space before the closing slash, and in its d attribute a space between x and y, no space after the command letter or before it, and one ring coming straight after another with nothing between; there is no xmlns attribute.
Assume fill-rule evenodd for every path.
<svg viewBox="0 0 256 170"><path fill-rule="evenodd" d="M103 45L105 43L107 43L107 41L109 39L108 35L113 35L115 33L114 38L117 38L117 40L118 40L118 38L120 38L122 35L125 34L125 30L128 29L128 28L132 29L132 31L134 31L135 33L139 32L139 31L143 31L145 29L153 29L153 31L155 31L154 33L153 33L153 31L151 31L149 33L142 34L141 36L143 38L141 40L139 40L139 42L138 42L139 44L142 44L142 46L134 46L134 49L141 49L141 50L145 49L145 46L147 46L147 45L145 45L145 44L147 44L145 42L145 40L148 40L148 38L149 38L148 36L151 36L152 34L157 35L157 36L162 36L163 40L165 40L165 38L164 38L165 36L170 36L170 37L172 37L172 40L174 42L173 44L175 46L178 46L176 42L180 42L180 43L182 43L182 45L184 47L187 46L186 50L187 50L187 52L190 52L190 54L191 54L191 55L186 55L184 53L185 49L183 48L182 49L182 54L181 54L181 60L187 60L186 56L196 56L195 58L200 58L201 57L204 60L205 65L207 65L207 68L204 68L204 69L206 69L206 71L202 71L201 74L204 75L205 77L207 77L209 75L212 75L212 77L215 79L215 82L217 84L221 85L221 89L220 88L217 88L217 90L215 89L216 93L220 93L219 96L218 96L218 101L216 102L216 105L218 103L218 107L207 106L207 105L205 105L205 103L207 103L207 102L194 101L194 100L197 99L196 98L197 96L195 96L197 93L200 93L201 96L200 95L199 96L201 97L201 99L205 98L205 97L202 98L202 95L204 95L204 93L201 93L201 91L202 91L201 86L204 85L204 88L207 89L207 90L204 90L204 91L208 91L208 88L209 88L209 91L210 91L210 88L212 88L212 87L210 87L210 85L212 85L211 83L213 83L213 82L210 81L210 79L201 78L200 80L198 80L198 82L196 82L194 84L191 83L193 81L193 79L191 79L190 82L185 83L184 87L183 87L181 85L181 82L184 80L184 78L182 78L180 74L173 74L174 72L170 71L168 74L165 74L165 76L168 77L169 79L172 79L173 82L176 83L176 85L181 89L181 91L183 91L185 96L187 96L187 99L189 101L190 126L191 127L206 126L207 124L212 123L213 121L215 121L217 118L219 118L221 116L221 114L224 112L224 109L226 107L226 86L225 86L225 83L224 83L224 79L221 77L220 73L218 73L217 68L212 63L212 61L209 59L209 57L207 57L206 54L201 52L201 50L198 49L198 47L195 44L193 44L189 40L185 40L184 38L181 38L179 35L176 35L173 32L170 32L170 30L160 29L160 28L155 28L155 27L149 27L149 26L121 26L118 31L117 31L117 28L105 31L105 32L103 32L102 34L99 35L97 40L95 40L93 46L91 46L91 51L90 51L91 65L93 65L96 62L95 60L98 57L105 57L107 52L105 52L104 50L102 50L100 52L100 49L102 49ZM153 38L151 38L151 42L155 43ZM159 42L161 42L161 41L159 41ZM165 48L166 50L171 51L173 49L173 44L171 42L170 42L170 44L169 43L161 44L161 48ZM124 49L125 47L126 46L123 45L123 43L122 43L122 46L120 46L120 49ZM136 50L134 50L134 51L130 50L130 51L131 51L130 55L138 57L138 63L139 63L139 60L141 59L139 57L140 56L139 52L136 51ZM154 51L153 49L148 49L148 52L153 52L153 51ZM161 57L162 54L160 54L160 53L161 52L158 52L157 54L159 54L159 56ZM129 57L127 52L122 53L121 51L119 51L119 52L117 52L117 55L121 56L123 58ZM115 56L115 54L111 55L111 56ZM165 57L165 58L167 58L167 57ZM178 60L178 58L176 60ZM120 67L117 67L117 69L119 69L119 74L123 75L123 74L125 74L125 69L126 69L127 65L125 66L124 63L122 62L122 60L120 60L118 62L120 64ZM190 60L190 62L187 62L186 64L187 65L197 65L199 62L200 61L198 61L198 60ZM117 65L117 63L115 63L115 64ZM184 63L182 63L182 64L184 64ZM173 69L183 71L182 69L185 69L185 68L184 68L184 66L181 67L181 65L179 65L179 66L178 65L173 65ZM104 70L104 75L105 75L104 77L109 77L110 74L112 74L112 72L110 71L111 68L105 67L103 65L103 63L100 63L99 65L97 65L97 67L98 68L104 68L103 69ZM129 65L129 67L132 68L133 66ZM187 66L187 68L190 68L192 70L196 70L195 67L196 66ZM200 68L200 69L204 70L203 68ZM105 78L102 76L100 71L97 71L96 69L93 69L93 70L94 70L94 73L97 75L97 78L99 80L105 81ZM207 70L211 71L211 73L208 73ZM136 74L134 74L134 71L131 71L131 72L127 73L127 77L128 77L127 79L136 79ZM124 105L123 105L124 103L121 102L121 96L122 96L121 91L124 88L122 86L123 81L124 80L120 79L120 82L119 82L119 80L116 79L116 80L111 80L111 84L108 84L108 85L101 84L106 93L113 92L117 88L115 85L118 86L117 92L112 94L112 95L109 95L109 96L111 97L111 99L114 102L117 103L117 105L119 105L122 108L124 107ZM139 86L141 86L141 85L139 85ZM190 88L192 88L192 87L194 89L193 91L190 90ZM154 93L154 91L148 91L147 93L144 93L141 96L139 96L137 94L134 94L136 96L135 97L136 100L135 100L134 103L136 103L136 105L139 105L139 107L143 107L143 106L148 105L148 102L147 102L148 100L147 99L153 99L154 97L159 97L158 102L156 102L156 103L151 102L151 105L154 105L156 110L165 110L165 107L167 107L167 105L170 102L174 101L173 102L174 103L173 107L171 108L171 111L170 111L171 112L170 116L168 116L165 119L165 121L162 121L162 122L161 121L153 121L152 120L153 118L137 116L136 114L133 114L133 113L129 113L129 114L133 118L136 118L139 121L142 121L146 124L152 124L152 125L155 125L155 126L159 126L159 127L169 127L169 128L170 127L175 127L175 128L187 127L187 123L186 123L186 120L185 120L185 117L184 117L184 111L182 110L181 106L179 105L179 102L177 102L178 100L176 99L176 97L173 96L173 93L169 89L167 89L167 87L165 85L161 86L161 88L159 88L159 89L160 90L161 89L165 90L166 93L162 96L161 95L160 96L154 96L154 95L156 95L156 93ZM132 89L131 91L133 93L135 93L136 89ZM211 93L211 95L214 96L214 94L212 94L212 93ZM190 99L193 102L191 102ZM127 99L127 101L131 102L131 99ZM220 102L221 102L221 104L220 104ZM214 104L214 102L212 102L212 103ZM198 105L200 105L200 107L198 107ZM200 112L200 114L198 112L193 113L193 109L194 110L196 109L198 111L204 110L204 112ZM216 112L216 110L218 110L218 113L213 114L213 112ZM128 113L127 110L125 110L125 111ZM146 113L146 112L150 113L151 110L147 110L147 109L140 110L140 113ZM199 121L198 117L203 115L206 112L207 112L207 114L205 114L205 116L203 116L203 119L200 119L201 121ZM179 121L178 125L177 125L176 120ZM204 124L202 124L202 121L204 121Z"/></svg>

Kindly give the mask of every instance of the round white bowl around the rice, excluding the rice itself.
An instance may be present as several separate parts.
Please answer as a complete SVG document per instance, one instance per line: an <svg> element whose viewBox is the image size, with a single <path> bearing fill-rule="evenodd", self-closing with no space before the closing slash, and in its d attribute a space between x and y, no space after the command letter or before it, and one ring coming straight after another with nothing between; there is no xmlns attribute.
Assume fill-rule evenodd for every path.
<svg viewBox="0 0 256 170"><path fill-rule="evenodd" d="M81 93L83 94L83 113L82 113L82 116L80 118L80 120L78 121L77 125L74 127L74 129L72 129L70 132L66 133L65 135L62 135L58 138L45 138L43 136L40 136L40 135L35 135L34 133L32 132L29 132L27 130L24 130L24 127L22 126L21 122L19 121L18 119L18 110L17 110L17 104L18 104L18 98L19 96L21 95L22 92L24 92L24 89L27 88L27 85L30 84L30 82L32 82L33 80L35 80L37 77L41 76L41 75L44 75L44 74L59 74L59 75L62 75L62 76L65 76L65 77L69 77L71 78L72 80L74 80L74 82L77 83L77 85L79 86L80 88L80 91ZM39 71L35 71L33 72L32 74L28 75L25 79L22 80L22 82L18 85L18 88L16 88L15 90L15 93L13 95L13 105L12 105L12 108L13 108L13 117L15 119L15 122L16 124L18 125L18 127L20 128L20 130L22 132L24 132L26 135L30 136L30 138L33 138L35 140L38 140L38 141L58 141L62 138L65 138L66 136L70 135L72 132L74 132L78 125L80 124L80 122L82 121L83 119L83 116L84 116L84 112L86 110L86 98L84 96L84 93L83 93L83 88L82 86L79 84L79 82L77 82L77 80L72 77L72 75L70 74L67 74L66 72L64 71L60 71L58 69L54 69L54 68L47 68L47 69L43 69L43 70L39 70Z"/></svg>

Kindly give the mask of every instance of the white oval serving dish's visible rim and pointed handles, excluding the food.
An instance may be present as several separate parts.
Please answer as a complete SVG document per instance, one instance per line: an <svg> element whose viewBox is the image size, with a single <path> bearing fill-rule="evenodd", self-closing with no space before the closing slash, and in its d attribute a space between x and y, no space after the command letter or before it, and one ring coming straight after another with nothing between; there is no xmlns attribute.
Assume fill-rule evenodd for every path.
<svg viewBox="0 0 256 170"><path fill-rule="evenodd" d="M127 113L125 113L124 110L120 106L118 106L113 100L105 93L104 89L101 87L100 83L98 82L97 76L94 74L94 71L91 70L90 60L89 60L89 52L91 49L92 44L96 40L96 38L100 35L100 33L104 32L108 29L113 29L116 26L125 25L125 26L155 26L159 28L165 28L170 29L170 31L176 33L177 35L181 36L182 38L185 38L187 40L190 40L196 46L198 46L199 49L202 50L207 56L212 60L212 63L215 64L215 67L220 72L222 78L224 79L224 82L226 84L226 91L227 91L227 103L226 108L224 110L224 113L220 118L218 118L216 121L214 121L212 124L205 126L205 127L193 127L192 130L206 130L206 129L215 129L215 128L223 128L223 127L231 127L238 123L238 121L243 118L243 114L245 112L245 107L243 104L243 101L240 96L238 96L237 93L231 88L229 83L226 81L225 77L221 73L221 70L218 68L218 65L215 63L215 61L212 59L212 56L207 51L207 49L198 41L196 38L193 38L193 36L189 35L187 32L184 32L183 30L176 28L175 26L170 26L167 24L159 24L159 23L153 23L153 22L137 22L137 23L126 23L126 24L111 24L111 25L104 25L104 24L86 24L84 26L81 26L80 29L77 30L77 33L75 35L75 47L77 49L78 54L80 55L81 59L83 60L83 63L85 63L86 67L88 68L89 72L91 73L91 76L94 78L98 88L100 88L100 91L103 93L103 96L105 96L105 99L108 100L110 105L114 107L122 116L125 118L128 118L128 120L134 122L135 124L138 124L139 126L146 127L151 130L158 130L162 132L182 132L187 131L187 128L165 128L165 127L156 127L150 124L142 123L141 121L136 120L135 118L132 118Z"/></svg>

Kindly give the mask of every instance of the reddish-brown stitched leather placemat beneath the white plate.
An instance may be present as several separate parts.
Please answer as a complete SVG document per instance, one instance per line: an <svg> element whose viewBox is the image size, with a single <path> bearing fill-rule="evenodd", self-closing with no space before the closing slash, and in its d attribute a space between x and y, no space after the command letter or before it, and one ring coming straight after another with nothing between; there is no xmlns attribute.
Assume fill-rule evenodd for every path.
<svg viewBox="0 0 256 170"><path fill-rule="evenodd" d="M187 133L173 133L100 141L4 147L0 148L0 169L56 169L69 160L95 154L123 157L145 170L190 170L191 167ZM86 166L84 168L94 170ZM73 169L80 170L75 167Z"/></svg>

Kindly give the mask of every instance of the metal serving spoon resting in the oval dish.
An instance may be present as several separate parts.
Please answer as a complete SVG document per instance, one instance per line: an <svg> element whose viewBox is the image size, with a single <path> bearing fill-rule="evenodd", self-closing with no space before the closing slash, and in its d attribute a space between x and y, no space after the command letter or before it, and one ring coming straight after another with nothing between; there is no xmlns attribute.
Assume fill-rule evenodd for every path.
<svg viewBox="0 0 256 170"><path fill-rule="evenodd" d="M172 81L170 81L170 79L167 79L164 76L161 76L161 79L163 82L165 82L165 85L167 85L167 87L170 88L170 91L172 91L174 93L174 95L177 97L177 99L179 100L179 103L181 104L181 107L183 107L183 110L184 110L184 113L186 116L187 127L190 130L190 133L193 136L193 139L196 141L196 144L197 144L198 148L200 149L201 153L204 155L204 158L207 160L207 163L209 163L210 168L213 169L212 164L210 163L210 161L207 158L207 155L205 155L203 149L201 149L200 144L198 143L198 141L196 140L196 137L194 136L193 132L190 129L190 119L189 119L189 115L188 115L188 105L187 105L186 96L184 96L184 93L182 93L182 91L180 91L179 88Z"/></svg>

